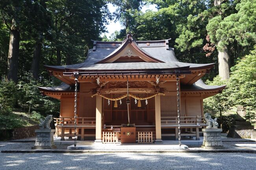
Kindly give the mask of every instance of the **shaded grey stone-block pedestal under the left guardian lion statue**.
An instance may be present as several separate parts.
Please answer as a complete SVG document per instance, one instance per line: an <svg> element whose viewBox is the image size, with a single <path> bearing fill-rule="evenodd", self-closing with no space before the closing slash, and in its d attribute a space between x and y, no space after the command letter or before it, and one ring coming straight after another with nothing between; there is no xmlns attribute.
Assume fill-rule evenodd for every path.
<svg viewBox="0 0 256 170"><path fill-rule="evenodd" d="M54 149L53 135L55 129L36 129L35 145L32 149Z"/></svg>

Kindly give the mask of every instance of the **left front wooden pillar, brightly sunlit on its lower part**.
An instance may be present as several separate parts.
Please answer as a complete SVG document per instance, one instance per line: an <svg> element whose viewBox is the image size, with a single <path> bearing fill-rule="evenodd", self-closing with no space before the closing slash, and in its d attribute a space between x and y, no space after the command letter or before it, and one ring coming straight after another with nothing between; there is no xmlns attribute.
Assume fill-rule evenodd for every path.
<svg viewBox="0 0 256 170"><path fill-rule="evenodd" d="M96 140L95 142L102 142L101 132L102 132L102 97L96 95Z"/></svg>

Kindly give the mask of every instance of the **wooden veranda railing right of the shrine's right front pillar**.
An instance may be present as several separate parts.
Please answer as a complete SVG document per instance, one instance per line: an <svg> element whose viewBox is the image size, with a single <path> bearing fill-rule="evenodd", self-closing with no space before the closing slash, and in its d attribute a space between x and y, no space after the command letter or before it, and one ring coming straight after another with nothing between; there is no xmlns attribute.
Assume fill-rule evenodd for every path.
<svg viewBox="0 0 256 170"><path fill-rule="evenodd" d="M181 116L181 125L203 125L204 117L202 116ZM161 117L161 125L178 125L178 117Z"/></svg>

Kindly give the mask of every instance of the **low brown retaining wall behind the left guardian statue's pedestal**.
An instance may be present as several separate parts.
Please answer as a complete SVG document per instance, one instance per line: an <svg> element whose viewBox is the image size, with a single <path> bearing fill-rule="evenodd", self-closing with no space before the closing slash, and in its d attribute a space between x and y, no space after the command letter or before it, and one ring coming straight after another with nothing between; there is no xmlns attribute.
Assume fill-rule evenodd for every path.
<svg viewBox="0 0 256 170"><path fill-rule="evenodd" d="M35 130L39 129L39 125L26 126L23 128L17 128L12 130L11 139L25 139L35 136Z"/></svg>

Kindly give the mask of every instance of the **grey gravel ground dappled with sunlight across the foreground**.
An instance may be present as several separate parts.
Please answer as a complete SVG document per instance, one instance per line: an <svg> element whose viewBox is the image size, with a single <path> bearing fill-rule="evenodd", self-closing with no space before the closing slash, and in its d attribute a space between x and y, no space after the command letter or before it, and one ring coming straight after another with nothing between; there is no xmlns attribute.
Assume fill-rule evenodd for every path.
<svg viewBox="0 0 256 170"><path fill-rule="evenodd" d="M117 153L4 154L0 170L255 170L256 154L243 153Z"/></svg>

